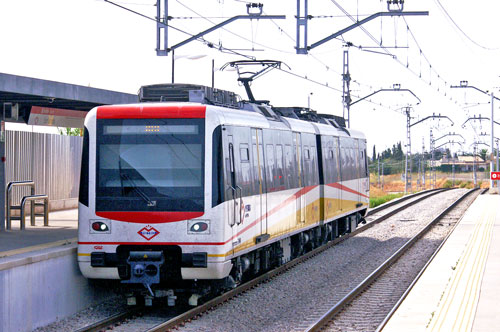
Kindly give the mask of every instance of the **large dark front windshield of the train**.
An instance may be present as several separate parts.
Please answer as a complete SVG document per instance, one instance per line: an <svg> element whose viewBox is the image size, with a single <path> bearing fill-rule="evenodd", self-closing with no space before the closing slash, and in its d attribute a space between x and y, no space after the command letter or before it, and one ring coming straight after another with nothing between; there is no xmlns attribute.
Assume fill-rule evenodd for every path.
<svg viewBox="0 0 500 332"><path fill-rule="evenodd" d="M96 211L203 211L204 119L102 119Z"/></svg>

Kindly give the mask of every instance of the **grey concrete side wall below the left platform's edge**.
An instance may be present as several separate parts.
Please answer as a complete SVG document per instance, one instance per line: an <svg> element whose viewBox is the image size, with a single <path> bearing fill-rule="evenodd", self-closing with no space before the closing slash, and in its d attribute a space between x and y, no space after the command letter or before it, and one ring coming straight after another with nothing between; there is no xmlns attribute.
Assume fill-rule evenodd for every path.
<svg viewBox="0 0 500 332"><path fill-rule="evenodd" d="M1 332L32 331L111 295L81 275L76 244L0 258Z"/></svg>

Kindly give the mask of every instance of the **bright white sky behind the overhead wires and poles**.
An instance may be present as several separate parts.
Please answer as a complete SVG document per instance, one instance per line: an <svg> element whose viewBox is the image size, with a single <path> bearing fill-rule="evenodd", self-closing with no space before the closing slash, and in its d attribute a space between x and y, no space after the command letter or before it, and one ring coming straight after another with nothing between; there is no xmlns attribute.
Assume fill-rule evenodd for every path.
<svg viewBox="0 0 500 332"><path fill-rule="evenodd" d="M116 3L156 16L156 0ZM344 51L348 50L353 101L394 84L418 97L403 91L379 92L352 105L351 128L365 133L370 156L373 145L381 152L398 141L406 144L406 107L411 107L412 153L421 152L422 146L429 149L431 129L434 138L445 136L436 146L448 140L462 141L458 135L465 138L462 145L444 145L453 152L472 151L471 144L478 140L489 144L490 138L480 134L490 135L490 123L466 121L474 115L490 117L491 97L471 88L449 86L467 80L500 97L498 1L407 0L404 11L428 11L429 15L377 18L306 55L295 52L297 1L262 3L263 14L286 15L286 19L236 21L204 36L205 43L193 41L178 48L175 82L210 86L214 60L215 87L246 99L237 73L220 68L244 59L242 54L279 60L284 70L270 71L253 82L257 99L275 106L307 107L309 103L319 113L343 115L341 74ZM309 1L308 9L311 45L350 26L353 20L387 11L387 3L315 0ZM189 34L246 14L244 1L169 0L170 24ZM156 55L155 22L103 0L3 0L0 31L3 73L128 93L137 93L141 85L171 82L172 55ZM189 35L169 29L168 36L172 46ZM346 47L347 43L352 46ZM496 102L494 119L498 122L499 108L500 102ZM451 121L427 119L415 124L433 114ZM495 136L500 137L496 127ZM449 133L457 135L446 136Z"/></svg>

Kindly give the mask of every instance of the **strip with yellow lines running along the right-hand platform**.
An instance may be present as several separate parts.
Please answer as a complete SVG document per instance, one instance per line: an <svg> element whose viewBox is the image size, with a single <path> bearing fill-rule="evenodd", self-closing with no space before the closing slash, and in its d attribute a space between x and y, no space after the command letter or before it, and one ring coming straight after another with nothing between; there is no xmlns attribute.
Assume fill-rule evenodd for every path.
<svg viewBox="0 0 500 332"><path fill-rule="evenodd" d="M496 209L484 209L445 290L430 331L470 331L486 266ZM458 308L457 308L458 306Z"/></svg>

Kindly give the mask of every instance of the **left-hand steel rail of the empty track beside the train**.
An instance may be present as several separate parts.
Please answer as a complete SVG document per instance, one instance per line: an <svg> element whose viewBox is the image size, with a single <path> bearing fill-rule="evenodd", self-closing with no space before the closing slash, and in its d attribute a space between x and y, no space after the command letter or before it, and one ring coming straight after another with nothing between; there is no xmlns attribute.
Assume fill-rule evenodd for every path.
<svg viewBox="0 0 500 332"><path fill-rule="evenodd" d="M319 318L314 324L309 326L305 332L315 332L320 331L324 328L332 318L337 315L344 307L351 303L358 295L365 291L380 275L382 275L393 263L395 263L405 252L409 249L417 240L419 240L425 233L427 233L439 220L441 220L449 211L455 208L458 203L460 203L469 194L477 189L471 189L467 191L464 195L458 198L453 204L447 207L443 212L441 212L436 218L427 224L417 235L408 240L398 251L396 251L391 257L389 257L385 262L383 262L375 271L373 271L368 277L366 277L355 289L353 289L349 294L344 296L339 302L337 302L328 312L326 312L321 318ZM426 196L428 197L428 196ZM414 203L414 202L412 202ZM368 225L367 225L368 226Z"/></svg>

